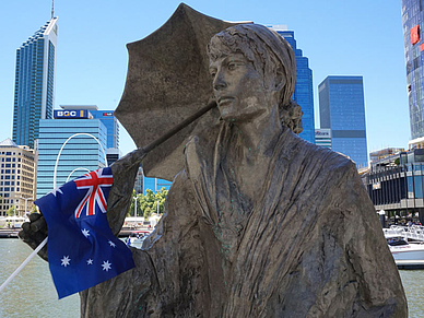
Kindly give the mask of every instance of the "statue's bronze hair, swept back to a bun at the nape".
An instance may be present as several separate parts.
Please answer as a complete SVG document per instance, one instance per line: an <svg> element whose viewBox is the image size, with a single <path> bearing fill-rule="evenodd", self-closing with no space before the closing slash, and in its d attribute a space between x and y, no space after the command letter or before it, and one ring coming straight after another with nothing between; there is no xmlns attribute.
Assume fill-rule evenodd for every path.
<svg viewBox="0 0 424 318"><path fill-rule="evenodd" d="M222 45L216 45L222 44ZM296 82L296 59L290 44L276 32L260 24L238 24L214 35L208 44L208 56L217 59L234 52L254 63L269 87L283 72L286 83L279 94L281 122L295 133L302 132L302 108L292 99Z"/></svg>

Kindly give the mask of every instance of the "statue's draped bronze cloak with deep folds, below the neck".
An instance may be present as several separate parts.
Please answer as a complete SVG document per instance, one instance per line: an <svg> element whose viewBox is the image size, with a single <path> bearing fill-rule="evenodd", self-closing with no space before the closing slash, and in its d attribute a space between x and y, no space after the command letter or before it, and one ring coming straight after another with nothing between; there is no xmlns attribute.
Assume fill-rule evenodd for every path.
<svg viewBox="0 0 424 318"><path fill-rule="evenodd" d="M355 165L283 128L251 189L240 138L221 122L189 141L137 268L82 292L82 316L407 317Z"/></svg>

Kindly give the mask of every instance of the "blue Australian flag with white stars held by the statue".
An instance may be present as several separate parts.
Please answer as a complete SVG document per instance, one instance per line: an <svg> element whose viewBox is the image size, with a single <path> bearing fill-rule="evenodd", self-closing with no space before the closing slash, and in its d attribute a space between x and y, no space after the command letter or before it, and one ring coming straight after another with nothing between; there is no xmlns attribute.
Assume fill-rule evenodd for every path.
<svg viewBox="0 0 424 318"><path fill-rule="evenodd" d="M86 174L36 200L48 227L48 262L59 299L134 267L106 217L109 167Z"/></svg>

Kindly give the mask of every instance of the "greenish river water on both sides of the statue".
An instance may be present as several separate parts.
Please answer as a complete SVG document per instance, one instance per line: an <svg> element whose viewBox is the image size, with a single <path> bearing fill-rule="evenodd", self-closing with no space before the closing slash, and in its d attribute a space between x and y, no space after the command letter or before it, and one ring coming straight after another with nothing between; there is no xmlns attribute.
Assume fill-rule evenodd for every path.
<svg viewBox="0 0 424 318"><path fill-rule="evenodd" d="M0 239L0 284L32 249L20 239ZM424 270L400 271L410 318L424 317ZM389 278L388 278L389 279ZM0 317L68 318L80 316L78 294L58 301L48 264L35 257L0 294Z"/></svg>

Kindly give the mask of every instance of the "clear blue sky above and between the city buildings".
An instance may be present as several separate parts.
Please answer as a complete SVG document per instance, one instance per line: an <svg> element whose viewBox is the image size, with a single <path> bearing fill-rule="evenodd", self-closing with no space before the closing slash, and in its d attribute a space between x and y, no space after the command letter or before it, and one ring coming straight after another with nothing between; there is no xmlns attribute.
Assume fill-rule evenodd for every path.
<svg viewBox="0 0 424 318"><path fill-rule="evenodd" d="M126 81L126 44L148 36L179 1L56 0L59 16L56 108L97 105L115 109ZM318 84L327 75L363 75L368 152L408 146L410 123L401 1L187 1L227 21L285 24L314 73L316 126ZM0 141L12 134L15 50L50 19L50 0L2 1L0 11ZM134 149L121 128L121 151Z"/></svg>

